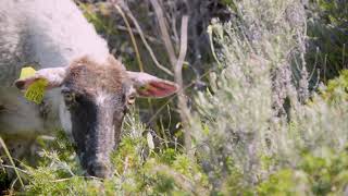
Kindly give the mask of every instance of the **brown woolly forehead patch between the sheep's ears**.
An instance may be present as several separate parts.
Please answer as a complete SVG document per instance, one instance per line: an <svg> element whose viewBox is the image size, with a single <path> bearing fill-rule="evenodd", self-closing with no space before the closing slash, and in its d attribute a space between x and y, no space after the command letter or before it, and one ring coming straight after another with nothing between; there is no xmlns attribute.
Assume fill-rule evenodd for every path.
<svg viewBox="0 0 348 196"><path fill-rule="evenodd" d="M70 65L64 83L77 91L96 95L97 89L119 93L126 81L126 70L113 57L109 57L104 64L84 57Z"/></svg>

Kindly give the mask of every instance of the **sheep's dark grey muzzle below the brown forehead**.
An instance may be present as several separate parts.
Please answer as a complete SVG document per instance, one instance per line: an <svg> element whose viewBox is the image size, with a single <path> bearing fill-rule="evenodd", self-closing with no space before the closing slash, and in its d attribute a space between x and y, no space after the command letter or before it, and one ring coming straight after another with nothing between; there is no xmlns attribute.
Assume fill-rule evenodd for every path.
<svg viewBox="0 0 348 196"><path fill-rule="evenodd" d="M115 109L111 103L105 105L108 107L79 99L70 108L72 134L80 164L88 175L102 179L112 174L110 156L115 149L123 121L123 118L114 118Z"/></svg>

